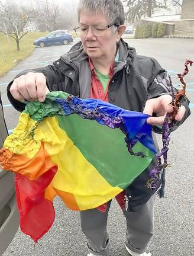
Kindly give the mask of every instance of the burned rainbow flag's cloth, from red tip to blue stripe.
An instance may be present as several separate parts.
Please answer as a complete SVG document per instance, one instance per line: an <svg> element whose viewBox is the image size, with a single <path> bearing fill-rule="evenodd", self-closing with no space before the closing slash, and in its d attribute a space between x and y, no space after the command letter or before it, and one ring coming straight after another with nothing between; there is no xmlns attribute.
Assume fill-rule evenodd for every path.
<svg viewBox="0 0 194 256"><path fill-rule="evenodd" d="M28 103L0 151L2 168L16 174L21 230L34 241L49 231L57 195L87 210L130 185L155 157L148 117L66 92Z"/></svg>

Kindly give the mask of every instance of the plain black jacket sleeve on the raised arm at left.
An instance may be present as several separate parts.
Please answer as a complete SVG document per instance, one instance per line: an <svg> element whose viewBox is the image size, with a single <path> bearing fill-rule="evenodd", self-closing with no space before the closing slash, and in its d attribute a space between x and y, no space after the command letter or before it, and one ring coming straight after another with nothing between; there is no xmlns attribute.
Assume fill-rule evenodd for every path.
<svg viewBox="0 0 194 256"><path fill-rule="evenodd" d="M21 75L25 75L28 72L43 73L46 76L47 87L49 88L50 91L64 91L65 76L54 65L48 65L43 68L27 69L25 71L18 73L18 75L15 76L15 78L18 78ZM16 110L23 111L26 104L15 100L15 98L12 97L12 94L10 92L10 87L13 82L14 82L14 80L9 82L8 87L7 87L8 99Z"/></svg>

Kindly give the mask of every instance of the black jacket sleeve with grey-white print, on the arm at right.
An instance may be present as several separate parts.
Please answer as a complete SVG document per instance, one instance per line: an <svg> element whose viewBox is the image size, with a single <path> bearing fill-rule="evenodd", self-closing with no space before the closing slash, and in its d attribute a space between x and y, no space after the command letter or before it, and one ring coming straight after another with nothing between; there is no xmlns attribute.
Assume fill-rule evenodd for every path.
<svg viewBox="0 0 194 256"><path fill-rule="evenodd" d="M172 95L172 88L170 88L170 82L167 78L167 72L161 68L160 64L155 59L151 59L153 61L153 71L152 77L148 80L147 84L147 100L151 98L157 98L164 94ZM178 91L173 87L174 92ZM190 115L189 109L189 99L187 97L183 98L182 105L185 106L186 111L183 119L181 121L174 121L171 132L177 129ZM154 116L154 113L153 113ZM153 126L153 131L156 133L161 133L161 126Z"/></svg>

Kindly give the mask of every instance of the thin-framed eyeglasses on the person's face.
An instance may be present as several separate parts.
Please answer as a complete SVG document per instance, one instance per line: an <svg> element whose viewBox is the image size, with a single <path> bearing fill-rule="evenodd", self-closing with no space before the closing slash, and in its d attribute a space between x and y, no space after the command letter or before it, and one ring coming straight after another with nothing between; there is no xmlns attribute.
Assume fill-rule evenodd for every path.
<svg viewBox="0 0 194 256"><path fill-rule="evenodd" d="M93 24L93 25L80 25L79 27L75 27L74 30L76 32L77 37L85 37L88 34L89 28L91 28L92 33L96 37L105 36L106 30L113 25L119 27L117 23L112 23L109 25L105 24Z"/></svg>

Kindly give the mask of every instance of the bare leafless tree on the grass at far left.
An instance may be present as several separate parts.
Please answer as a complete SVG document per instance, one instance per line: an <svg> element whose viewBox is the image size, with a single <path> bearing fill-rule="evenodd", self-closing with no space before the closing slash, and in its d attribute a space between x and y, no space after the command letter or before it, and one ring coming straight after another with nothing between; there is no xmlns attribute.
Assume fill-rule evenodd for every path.
<svg viewBox="0 0 194 256"><path fill-rule="evenodd" d="M22 7L16 2L0 2L0 22L6 24L7 33L15 40L17 50L20 50L20 40L28 33L27 24L34 17L34 9ZM0 27L0 31L6 34L3 27Z"/></svg>

